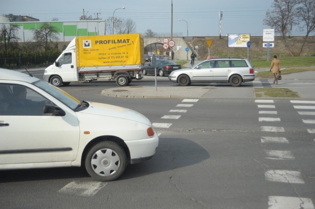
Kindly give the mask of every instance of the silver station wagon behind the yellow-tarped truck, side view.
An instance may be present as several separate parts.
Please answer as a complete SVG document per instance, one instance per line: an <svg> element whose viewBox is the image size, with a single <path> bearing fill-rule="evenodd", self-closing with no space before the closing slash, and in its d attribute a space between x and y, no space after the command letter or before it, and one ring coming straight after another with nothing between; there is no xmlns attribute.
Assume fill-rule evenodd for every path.
<svg viewBox="0 0 315 209"><path fill-rule="evenodd" d="M168 78L181 86L190 83L230 83L231 86L240 86L242 82L254 80L254 73L254 68L247 59L214 58L191 69L173 71Z"/></svg>

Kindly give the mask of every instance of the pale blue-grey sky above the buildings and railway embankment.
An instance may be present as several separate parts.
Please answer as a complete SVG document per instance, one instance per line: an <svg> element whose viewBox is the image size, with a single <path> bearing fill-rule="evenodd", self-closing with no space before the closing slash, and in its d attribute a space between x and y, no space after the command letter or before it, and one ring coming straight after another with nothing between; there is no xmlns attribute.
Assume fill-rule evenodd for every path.
<svg viewBox="0 0 315 209"><path fill-rule="evenodd" d="M173 0L173 33L189 36L218 36L219 13L221 35L251 34L262 36L266 11L274 0ZM136 23L136 32L152 29L157 33L171 32L172 0L6 0L1 3L0 14L27 15L40 21L76 21L83 15L92 15L105 20L113 16L131 19ZM292 31L291 35L305 35Z"/></svg>

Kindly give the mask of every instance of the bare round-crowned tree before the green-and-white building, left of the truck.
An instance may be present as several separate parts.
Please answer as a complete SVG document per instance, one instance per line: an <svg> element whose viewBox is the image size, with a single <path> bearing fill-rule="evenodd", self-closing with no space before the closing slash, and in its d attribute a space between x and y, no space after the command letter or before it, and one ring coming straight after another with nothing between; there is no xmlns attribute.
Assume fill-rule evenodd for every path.
<svg viewBox="0 0 315 209"><path fill-rule="evenodd" d="M49 42L58 41L58 32L57 27L49 23L43 23L38 29L33 30L33 37L39 46L47 50L49 48Z"/></svg>

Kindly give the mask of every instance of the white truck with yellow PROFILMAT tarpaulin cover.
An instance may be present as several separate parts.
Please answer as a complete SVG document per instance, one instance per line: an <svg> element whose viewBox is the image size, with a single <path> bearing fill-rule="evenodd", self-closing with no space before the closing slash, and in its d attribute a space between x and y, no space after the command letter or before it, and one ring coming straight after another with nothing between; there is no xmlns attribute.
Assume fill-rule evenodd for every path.
<svg viewBox="0 0 315 209"><path fill-rule="evenodd" d="M143 54L139 33L78 36L45 69L44 80L61 86L72 81L107 79L126 86L132 79L143 78Z"/></svg>

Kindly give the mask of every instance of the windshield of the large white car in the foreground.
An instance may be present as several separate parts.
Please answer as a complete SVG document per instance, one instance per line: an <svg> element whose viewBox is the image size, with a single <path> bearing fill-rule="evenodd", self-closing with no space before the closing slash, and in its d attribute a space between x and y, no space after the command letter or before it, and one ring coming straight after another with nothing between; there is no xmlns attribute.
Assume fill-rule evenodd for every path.
<svg viewBox="0 0 315 209"><path fill-rule="evenodd" d="M79 100L72 97L70 94L66 93L60 88L57 88L55 86L48 84L47 82L43 80L38 80L34 82L33 85L37 86L38 88L50 94L51 96L55 97L57 100L59 100L60 102L62 102L63 104L71 108L72 110L75 110L78 104L81 104Z"/></svg>

